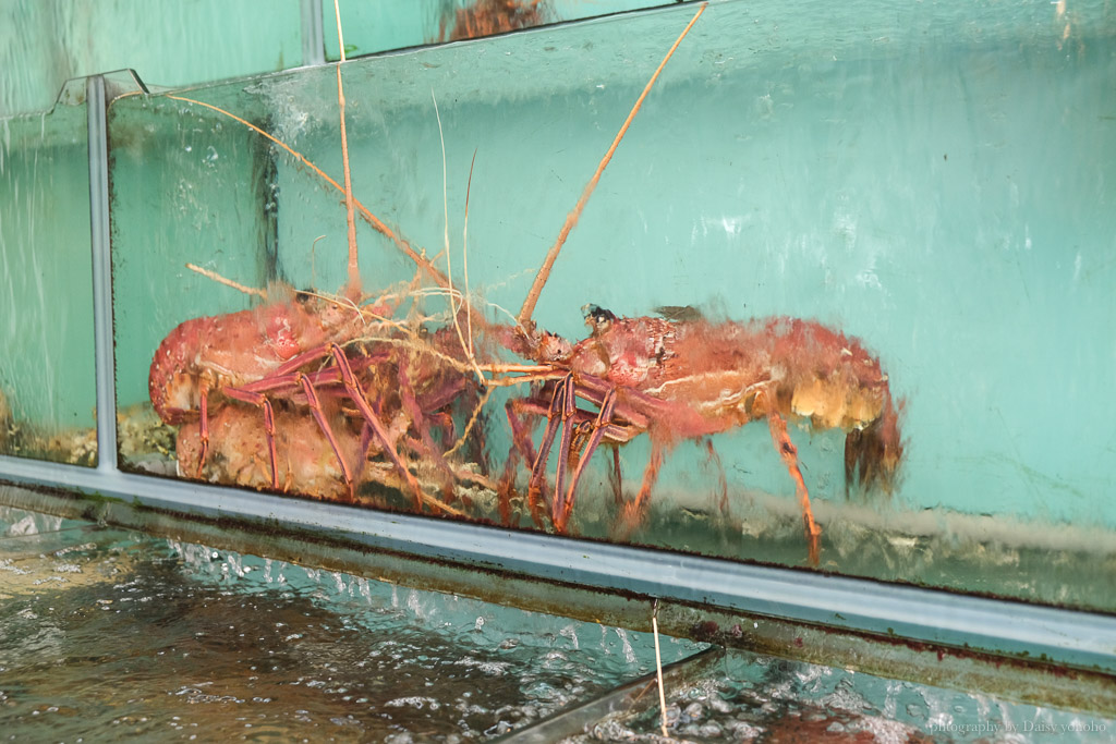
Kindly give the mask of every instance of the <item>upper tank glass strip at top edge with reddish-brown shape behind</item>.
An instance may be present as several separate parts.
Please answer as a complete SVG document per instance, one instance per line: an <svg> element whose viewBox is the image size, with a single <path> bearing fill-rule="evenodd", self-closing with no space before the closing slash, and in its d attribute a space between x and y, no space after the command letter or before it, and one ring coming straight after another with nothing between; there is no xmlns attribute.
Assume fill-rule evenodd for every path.
<svg viewBox="0 0 1116 744"><path fill-rule="evenodd" d="M339 3L346 57L461 41L665 4L660 0L381 0ZM324 2L326 59L340 59L334 3Z"/></svg>

